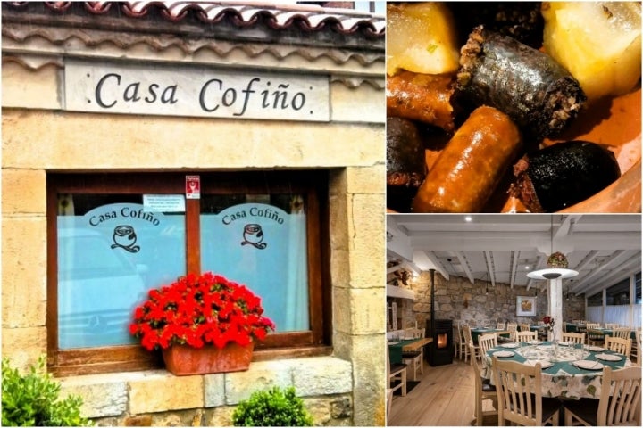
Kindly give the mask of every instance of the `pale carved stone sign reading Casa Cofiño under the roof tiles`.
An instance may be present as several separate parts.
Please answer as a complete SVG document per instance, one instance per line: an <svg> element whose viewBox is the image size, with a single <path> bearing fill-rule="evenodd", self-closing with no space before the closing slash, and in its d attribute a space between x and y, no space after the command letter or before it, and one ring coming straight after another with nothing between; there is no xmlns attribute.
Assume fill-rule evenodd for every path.
<svg viewBox="0 0 643 428"><path fill-rule="evenodd" d="M68 111L330 120L328 76L68 60L64 78Z"/></svg>

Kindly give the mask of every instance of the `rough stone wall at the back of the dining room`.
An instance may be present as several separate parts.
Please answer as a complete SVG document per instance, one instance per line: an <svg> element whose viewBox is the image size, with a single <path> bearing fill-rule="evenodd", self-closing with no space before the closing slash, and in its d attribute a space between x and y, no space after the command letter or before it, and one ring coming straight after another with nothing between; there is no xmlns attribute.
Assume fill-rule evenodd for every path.
<svg viewBox="0 0 643 428"><path fill-rule="evenodd" d="M417 321L418 326L426 325L430 319L430 274L422 272L420 278L410 282L410 288L415 292L413 313L408 323ZM511 288L509 284L492 286L489 281L475 280L474 284L468 278L451 276L447 281L436 272L436 318L462 320L468 325L496 325L499 322L540 321L547 315L547 292L536 292L534 288ZM486 287L489 286L489 293ZM536 316L517 317L516 297L537 296ZM563 303L565 321L585 318L585 296L571 294ZM405 321L406 322L406 321Z"/></svg>

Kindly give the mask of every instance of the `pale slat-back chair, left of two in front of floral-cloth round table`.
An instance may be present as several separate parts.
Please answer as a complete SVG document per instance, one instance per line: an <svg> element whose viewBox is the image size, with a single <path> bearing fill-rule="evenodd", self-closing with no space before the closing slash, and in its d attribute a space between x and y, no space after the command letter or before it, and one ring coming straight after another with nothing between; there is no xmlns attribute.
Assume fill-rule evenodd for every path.
<svg viewBox="0 0 643 428"><path fill-rule="evenodd" d="M499 426L505 425L505 421L532 426L558 424L561 403L555 398L543 398L540 363L528 366L493 357L491 367L496 381Z"/></svg>

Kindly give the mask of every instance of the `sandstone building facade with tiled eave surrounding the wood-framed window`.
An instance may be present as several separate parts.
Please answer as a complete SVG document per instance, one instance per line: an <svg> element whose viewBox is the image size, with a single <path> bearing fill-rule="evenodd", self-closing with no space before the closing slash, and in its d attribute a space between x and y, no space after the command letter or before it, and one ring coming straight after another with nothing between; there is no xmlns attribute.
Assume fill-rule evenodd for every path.
<svg viewBox="0 0 643 428"><path fill-rule="evenodd" d="M315 424L385 424L384 17L313 4L2 7L3 356L24 368L48 353L50 365L58 364L48 316L56 286L48 257L52 175L225 171L242 180L246 172L321 171L328 235L321 254L328 268L321 279L319 346L255 350L246 372L178 377L158 366L58 379L63 393L84 399L84 415L98 424L228 425L239 400L272 385L295 386ZM78 64L77 70L100 70L104 63L152 78L155 70L191 76L197 66L315 78L328 88L315 104L327 117L244 119L234 112L207 117L73 106L83 75L73 81L70 70ZM245 89L238 89L239 100L252 94ZM150 103L162 95L153 94L154 86L147 90ZM125 89L109 96L105 105L135 95Z"/></svg>

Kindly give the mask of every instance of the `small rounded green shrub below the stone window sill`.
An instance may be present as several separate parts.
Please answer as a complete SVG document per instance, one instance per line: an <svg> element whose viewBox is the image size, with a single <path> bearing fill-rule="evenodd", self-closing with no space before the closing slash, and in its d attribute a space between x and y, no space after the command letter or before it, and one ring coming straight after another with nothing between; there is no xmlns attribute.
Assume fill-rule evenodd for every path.
<svg viewBox="0 0 643 428"><path fill-rule="evenodd" d="M275 386L268 391L255 391L241 401L232 414L235 426L312 426L313 416L304 401L295 395L295 388L281 391Z"/></svg>

